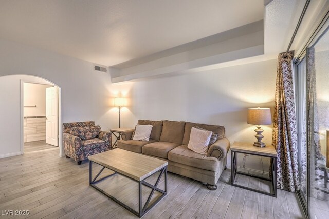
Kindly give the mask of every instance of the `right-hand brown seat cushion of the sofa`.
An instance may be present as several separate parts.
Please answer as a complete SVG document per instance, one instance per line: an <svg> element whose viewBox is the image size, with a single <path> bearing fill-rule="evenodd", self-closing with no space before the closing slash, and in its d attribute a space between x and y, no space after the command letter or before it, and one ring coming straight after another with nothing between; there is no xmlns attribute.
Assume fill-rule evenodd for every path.
<svg viewBox="0 0 329 219"><path fill-rule="evenodd" d="M196 153L188 149L187 145L181 145L169 151L168 160L210 171L217 171L219 165L217 158Z"/></svg>

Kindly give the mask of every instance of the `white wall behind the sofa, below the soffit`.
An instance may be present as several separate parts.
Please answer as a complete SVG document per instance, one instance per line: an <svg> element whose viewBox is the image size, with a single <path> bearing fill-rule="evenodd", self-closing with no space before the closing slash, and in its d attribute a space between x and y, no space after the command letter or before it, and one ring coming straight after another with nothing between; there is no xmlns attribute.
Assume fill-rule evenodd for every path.
<svg viewBox="0 0 329 219"><path fill-rule="evenodd" d="M253 143L256 127L247 124L247 108L274 106L276 71L273 59L123 84L131 103L122 109L122 126L134 127L139 118L223 125L231 143ZM270 145L272 126L263 129L263 142ZM268 172L268 160L263 161ZM260 157L248 157L246 167L262 171Z"/></svg>

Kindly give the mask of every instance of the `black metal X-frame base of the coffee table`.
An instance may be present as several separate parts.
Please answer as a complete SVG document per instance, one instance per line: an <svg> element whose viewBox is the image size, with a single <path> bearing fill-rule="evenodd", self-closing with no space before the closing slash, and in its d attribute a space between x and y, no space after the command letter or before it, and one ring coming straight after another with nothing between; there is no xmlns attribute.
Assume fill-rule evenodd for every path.
<svg viewBox="0 0 329 219"><path fill-rule="evenodd" d="M95 162L94 162L95 163ZM100 164L99 164L100 165ZM97 180L97 177L102 173L102 171L105 169L105 167L103 166L102 169L97 173L97 175L92 179L92 161L89 161L89 185L93 188L95 188L96 190L98 190L99 192L101 192L102 194L106 195L107 197L111 198L111 200L113 200L114 202L118 203L119 205L121 205L122 207L124 207L125 209L129 210L130 212L132 212L133 214L135 214L136 216L138 216L139 218L142 217L145 213L147 213L149 210L151 210L151 208L153 206L155 206L158 202L160 202L162 200L163 197L165 197L167 195L167 166L163 167L162 169L158 170L157 172L153 173L152 175L160 172L160 175L156 181L156 183L154 185L145 182L145 180L147 180L147 178L149 178L150 176L148 176L147 178L145 178L142 181L137 181L129 176L120 174L118 172L114 172L113 174L104 176L100 179ZM162 189L159 189L157 186L161 180L161 177L163 175L163 173L165 173L165 191L163 191ZM125 177L130 178L131 180L135 181L138 183L139 185L139 189L138 189L138 197L139 197L139 201L138 201L138 212L135 211L134 209L132 209L131 207L127 206L126 204L120 202L119 200L117 200L117 198L113 197L112 195L108 194L107 192L105 192L104 190L102 190L101 188L97 187L95 184L104 180L105 178L108 178L110 176L113 176L115 174L120 174L123 175ZM144 206L142 206L142 185L145 185L149 188L152 189L147 201L145 202ZM160 197L157 198L157 200L155 200L150 206L149 203L151 201L151 198L154 194L155 191L158 191L160 193L162 193L162 195Z"/></svg>

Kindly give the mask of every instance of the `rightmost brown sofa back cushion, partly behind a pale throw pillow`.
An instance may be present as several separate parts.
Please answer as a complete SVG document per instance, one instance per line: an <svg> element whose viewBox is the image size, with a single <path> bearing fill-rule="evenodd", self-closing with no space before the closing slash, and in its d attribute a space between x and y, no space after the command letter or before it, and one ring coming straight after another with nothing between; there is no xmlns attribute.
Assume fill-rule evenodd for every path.
<svg viewBox="0 0 329 219"><path fill-rule="evenodd" d="M206 129L208 131L212 131L213 133L217 133L218 134L217 139L222 139L225 136L224 126L216 126L216 125L207 125L207 124L186 122L184 138L183 138L183 141L182 141L183 145L188 145L189 144L191 129L192 129L192 127L195 127L195 126Z"/></svg>

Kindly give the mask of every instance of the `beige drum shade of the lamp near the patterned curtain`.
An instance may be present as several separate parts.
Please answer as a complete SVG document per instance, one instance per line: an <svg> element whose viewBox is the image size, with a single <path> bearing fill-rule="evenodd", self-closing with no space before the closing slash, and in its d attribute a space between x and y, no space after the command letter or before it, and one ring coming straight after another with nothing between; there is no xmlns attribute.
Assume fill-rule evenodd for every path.
<svg viewBox="0 0 329 219"><path fill-rule="evenodd" d="M272 124L270 108L250 108L248 109L248 124L270 125Z"/></svg>

